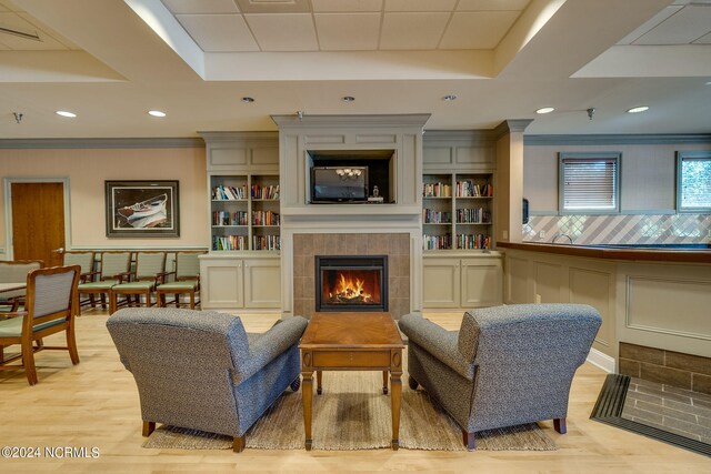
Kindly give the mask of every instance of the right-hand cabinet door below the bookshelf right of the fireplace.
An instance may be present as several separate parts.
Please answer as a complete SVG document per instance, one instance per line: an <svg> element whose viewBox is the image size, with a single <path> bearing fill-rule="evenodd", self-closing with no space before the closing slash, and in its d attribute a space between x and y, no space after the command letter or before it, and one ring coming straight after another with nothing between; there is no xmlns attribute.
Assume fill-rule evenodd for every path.
<svg viewBox="0 0 711 474"><path fill-rule="evenodd" d="M500 259L462 259L462 307L502 303L503 272Z"/></svg>

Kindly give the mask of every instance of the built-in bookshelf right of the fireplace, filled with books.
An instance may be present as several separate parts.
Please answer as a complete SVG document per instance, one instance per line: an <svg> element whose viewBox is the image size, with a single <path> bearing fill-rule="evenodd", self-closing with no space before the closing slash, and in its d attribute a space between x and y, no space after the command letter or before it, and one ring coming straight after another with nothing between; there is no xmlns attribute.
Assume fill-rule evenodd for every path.
<svg viewBox="0 0 711 474"><path fill-rule="evenodd" d="M425 251L491 249L491 173L423 174L422 181Z"/></svg>

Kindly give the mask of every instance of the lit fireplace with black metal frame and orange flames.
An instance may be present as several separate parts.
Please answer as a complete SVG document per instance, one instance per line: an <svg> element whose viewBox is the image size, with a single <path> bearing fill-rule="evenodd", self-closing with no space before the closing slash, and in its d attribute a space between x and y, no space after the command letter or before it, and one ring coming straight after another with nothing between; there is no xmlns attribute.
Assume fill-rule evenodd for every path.
<svg viewBox="0 0 711 474"><path fill-rule="evenodd" d="M388 311L388 255L316 255L316 311Z"/></svg>

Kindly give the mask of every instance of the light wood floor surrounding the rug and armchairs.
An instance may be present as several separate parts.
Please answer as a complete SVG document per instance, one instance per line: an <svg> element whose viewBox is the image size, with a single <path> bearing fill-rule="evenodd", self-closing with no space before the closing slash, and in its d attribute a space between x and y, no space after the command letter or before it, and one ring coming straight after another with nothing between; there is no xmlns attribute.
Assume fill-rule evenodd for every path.
<svg viewBox="0 0 711 474"><path fill-rule="evenodd" d="M461 321L460 314L428 316L448 329ZM136 384L119 362L107 317L94 311L77 320L79 365L63 351L41 352L36 386L23 372L0 372L0 446L96 446L99 456L0 458L0 472L711 472L708 457L589 420L605 376L590 364L573 381L568 434L541 423L559 445L555 452L146 450ZM244 315L243 321L248 331L262 332L277 317Z"/></svg>

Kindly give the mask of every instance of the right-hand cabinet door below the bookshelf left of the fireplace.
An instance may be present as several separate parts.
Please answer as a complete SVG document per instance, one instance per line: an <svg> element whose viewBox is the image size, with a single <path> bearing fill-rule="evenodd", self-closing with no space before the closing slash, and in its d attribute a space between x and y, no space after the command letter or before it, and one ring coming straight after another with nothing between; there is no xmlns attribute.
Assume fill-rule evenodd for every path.
<svg viewBox="0 0 711 474"><path fill-rule="evenodd" d="M244 307L281 307L278 259L244 259Z"/></svg>

